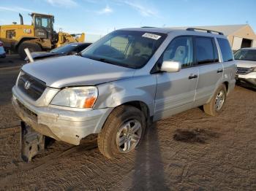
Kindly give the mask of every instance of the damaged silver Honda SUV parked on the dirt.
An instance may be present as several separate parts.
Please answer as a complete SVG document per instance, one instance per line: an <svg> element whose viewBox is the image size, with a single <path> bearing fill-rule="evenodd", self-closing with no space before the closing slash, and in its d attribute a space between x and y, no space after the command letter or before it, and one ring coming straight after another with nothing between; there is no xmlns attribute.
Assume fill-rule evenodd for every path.
<svg viewBox="0 0 256 191"><path fill-rule="evenodd" d="M217 115L235 86L227 38L195 28L127 28L80 55L26 64L12 88L24 160L45 136L78 145L98 134L105 157L131 152L150 122L203 106Z"/></svg>

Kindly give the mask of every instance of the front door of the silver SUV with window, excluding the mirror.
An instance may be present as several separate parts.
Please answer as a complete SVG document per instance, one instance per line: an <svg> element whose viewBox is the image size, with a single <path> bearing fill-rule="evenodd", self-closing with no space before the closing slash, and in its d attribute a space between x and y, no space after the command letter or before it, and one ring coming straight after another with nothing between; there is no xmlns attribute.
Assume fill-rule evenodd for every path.
<svg viewBox="0 0 256 191"><path fill-rule="evenodd" d="M181 71L161 72L157 75L154 120L169 117L190 109L195 98L198 69L193 67L193 38L181 36L173 39L163 52L159 63L163 61L181 62Z"/></svg>

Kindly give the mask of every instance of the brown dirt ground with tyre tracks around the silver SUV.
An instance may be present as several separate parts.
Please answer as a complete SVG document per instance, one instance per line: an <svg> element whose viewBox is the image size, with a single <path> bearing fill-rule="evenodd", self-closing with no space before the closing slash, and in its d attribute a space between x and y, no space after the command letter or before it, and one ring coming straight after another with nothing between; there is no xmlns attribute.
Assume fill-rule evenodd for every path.
<svg viewBox="0 0 256 191"><path fill-rule="evenodd" d="M218 117L195 108L155 123L118 160L84 139L77 147L55 142L24 163L10 104L17 75L18 67L0 68L0 190L256 190L254 90L236 86Z"/></svg>

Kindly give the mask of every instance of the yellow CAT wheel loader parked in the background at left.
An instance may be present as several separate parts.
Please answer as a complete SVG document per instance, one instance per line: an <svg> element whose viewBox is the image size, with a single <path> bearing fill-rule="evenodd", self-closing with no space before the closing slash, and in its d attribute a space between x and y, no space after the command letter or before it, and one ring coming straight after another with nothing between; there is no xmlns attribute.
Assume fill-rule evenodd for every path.
<svg viewBox="0 0 256 191"><path fill-rule="evenodd" d="M84 42L85 34L58 33L53 30L54 16L32 12L32 24L24 25L20 16L20 25L0 26L0 41L4 43L7 52L18 52L21 58L26 58L24 49L30 52L51 50L71 42Z"/></svg>

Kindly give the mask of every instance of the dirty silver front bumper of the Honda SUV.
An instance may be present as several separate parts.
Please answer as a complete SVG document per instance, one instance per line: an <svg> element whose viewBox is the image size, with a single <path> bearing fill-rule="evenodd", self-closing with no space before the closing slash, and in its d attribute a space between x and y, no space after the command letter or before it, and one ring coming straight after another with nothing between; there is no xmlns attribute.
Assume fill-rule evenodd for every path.
<svg viewBox="0 0 256 191"><path fill-rule="evenodd" d="M69 111L50 106L33 106L12 88L12 105L21 120L42 135L57 141L80 144L80 139L99 133L112 108Z"/></svg>

